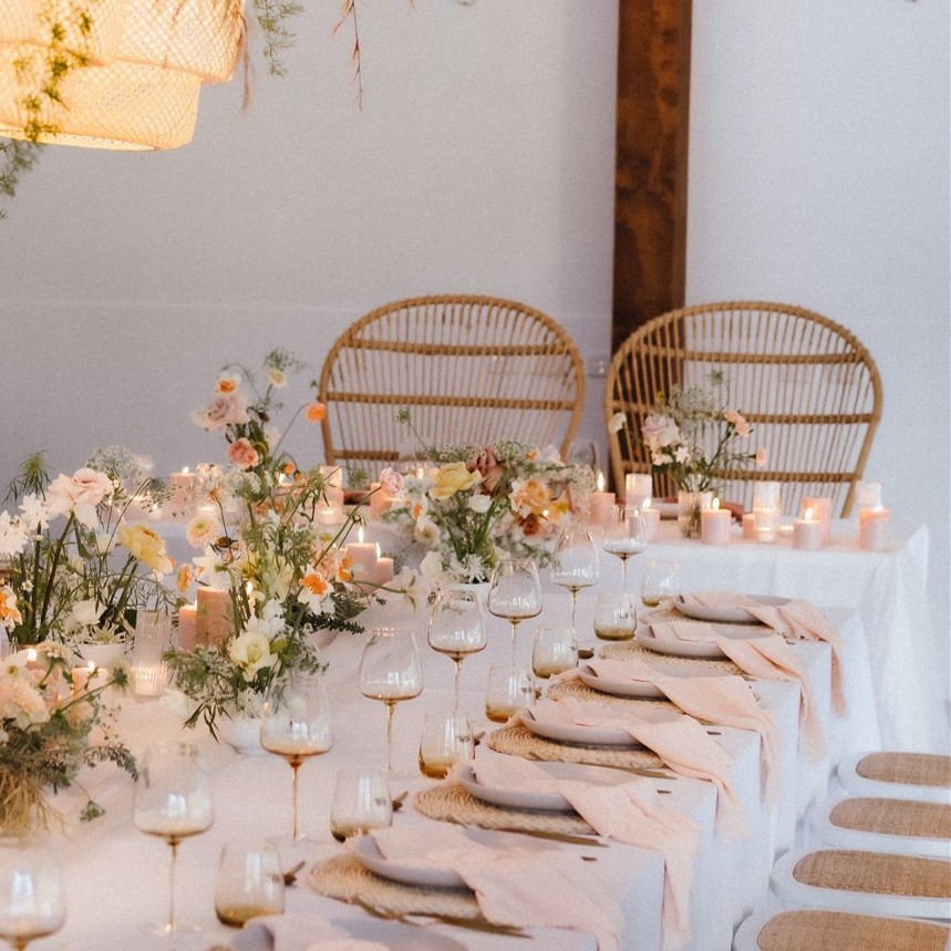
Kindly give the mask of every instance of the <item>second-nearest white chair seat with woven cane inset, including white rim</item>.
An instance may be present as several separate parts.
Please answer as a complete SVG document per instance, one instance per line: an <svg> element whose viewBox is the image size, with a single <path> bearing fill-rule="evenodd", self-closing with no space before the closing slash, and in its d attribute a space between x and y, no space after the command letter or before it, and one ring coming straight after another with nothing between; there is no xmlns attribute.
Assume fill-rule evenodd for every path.
<svg viewBox="0 0 951 951"><path fill-rule="evenodd" d="M857 914L951 919L951 860L865 849L795 849L773 866L789 905Z"/></svg>

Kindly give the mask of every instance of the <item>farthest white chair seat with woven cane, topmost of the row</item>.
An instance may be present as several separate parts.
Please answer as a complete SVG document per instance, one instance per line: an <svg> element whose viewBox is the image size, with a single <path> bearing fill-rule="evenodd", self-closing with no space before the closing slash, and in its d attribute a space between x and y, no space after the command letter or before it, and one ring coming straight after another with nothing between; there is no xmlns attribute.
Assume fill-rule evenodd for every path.
<svg viewBox="0 0 951 951"><path fill-rule="evenodd" d="M951 756L938 753L857 753L839 763L836 778L854 796L951 803Z"/></svg>

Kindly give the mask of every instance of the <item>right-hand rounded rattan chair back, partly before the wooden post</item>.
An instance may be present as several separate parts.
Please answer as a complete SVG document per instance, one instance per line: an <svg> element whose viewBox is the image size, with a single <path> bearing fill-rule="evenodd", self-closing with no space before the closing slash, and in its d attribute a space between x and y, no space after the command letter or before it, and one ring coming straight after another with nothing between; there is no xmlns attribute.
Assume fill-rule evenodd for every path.
<svg viewBox="0 0 951 951"><path fill-rule="evenodd" d="M650 472L641 423L658 393L704 386L723 373L730 407L753 426L750 451L766 448L766 468L720 473L724 499L752 507L755 480L783 484L783 510L798 513L807 496L833 499L849 515L881 416L881 382L862 344L821 314L781 303L731 302L688 307L635 330L611 362L604 395L608 420L628 425L609 434L614 484ZM658 495L673 495L669 479Z"/></svg>

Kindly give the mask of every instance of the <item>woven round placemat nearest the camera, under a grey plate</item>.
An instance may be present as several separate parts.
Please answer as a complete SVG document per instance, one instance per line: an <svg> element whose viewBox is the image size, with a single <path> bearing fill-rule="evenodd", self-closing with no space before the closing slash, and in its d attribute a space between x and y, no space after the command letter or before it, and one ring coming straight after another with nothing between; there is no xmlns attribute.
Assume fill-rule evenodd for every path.
<svg viewBox="0 0 951 951"><path fill-rule="evenodd" d="M353 855L334 856L313 866L307 883L320 895L363 905L387 917L482 918L475 895L467 888L421 888L390 881L374 875Z"/></svg>

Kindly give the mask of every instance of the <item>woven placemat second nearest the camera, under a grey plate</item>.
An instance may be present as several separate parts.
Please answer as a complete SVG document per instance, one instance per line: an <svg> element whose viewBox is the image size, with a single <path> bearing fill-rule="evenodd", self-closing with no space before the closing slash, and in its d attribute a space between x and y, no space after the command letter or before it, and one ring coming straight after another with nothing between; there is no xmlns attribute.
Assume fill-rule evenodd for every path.
<svg viewBox="0 0 951 951"><path fill-rule="evenodd" d="M556 836L595 835L595 830L577 813L542 813L494 806L476 799L458 783L444 783L423 789L413 796L412 802L413 808L424 816L461 826Z"/></svg>

